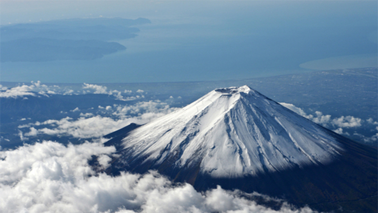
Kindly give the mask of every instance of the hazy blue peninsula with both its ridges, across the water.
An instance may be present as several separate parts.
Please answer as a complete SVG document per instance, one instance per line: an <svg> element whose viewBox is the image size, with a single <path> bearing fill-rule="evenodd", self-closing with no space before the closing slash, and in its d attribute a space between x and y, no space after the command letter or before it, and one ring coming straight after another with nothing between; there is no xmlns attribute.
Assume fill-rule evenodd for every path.
<svg viewBox="0 0 378 213"><path fill-rule="evenodd" d="M1 26L1 62L90 60L125 50L109 42L130 39L148 19L62 19Z"/></svg>

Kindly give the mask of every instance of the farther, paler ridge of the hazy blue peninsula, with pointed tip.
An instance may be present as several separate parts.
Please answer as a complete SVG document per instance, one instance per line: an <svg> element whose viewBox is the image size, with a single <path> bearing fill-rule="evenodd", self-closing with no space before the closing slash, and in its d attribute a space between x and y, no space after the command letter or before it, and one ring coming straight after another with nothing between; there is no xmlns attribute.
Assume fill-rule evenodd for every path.
<svg viewBox="0 0 378 213"><path fill-rule="evenodd" d="M16 39L73 39L117 40L134 38L138 28L131 27L151 23L148 19L60 19L27 24L1 26L1 42Z"/></svg>

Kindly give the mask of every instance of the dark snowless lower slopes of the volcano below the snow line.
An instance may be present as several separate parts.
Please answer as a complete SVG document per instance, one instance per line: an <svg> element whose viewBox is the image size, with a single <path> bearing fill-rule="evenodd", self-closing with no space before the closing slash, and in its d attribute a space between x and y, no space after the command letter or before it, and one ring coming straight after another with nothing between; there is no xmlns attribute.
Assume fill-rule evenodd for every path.
<svg viewBox="0 0 378 213"><path fill-rule="evenodd" d="M129 131L137 127L131 124L122 129L121 135L127 136ZM330 131L330 134L334 133ZM117 175L125 170L145 173L153 169L167 175L171 180L188 182L199 191L220 185L223 189L268 194L297 206L308 205L318 211L376 213L377 149L334 135L344 145L345 151L337 161L328 165L242 178L213 178L187 168L173 169L169 164L154 167L141 167L140 164L125 166L116 159L107 172ZM119 150L119 142L119 137L114 137L107 145L116 145Z"/></svg>

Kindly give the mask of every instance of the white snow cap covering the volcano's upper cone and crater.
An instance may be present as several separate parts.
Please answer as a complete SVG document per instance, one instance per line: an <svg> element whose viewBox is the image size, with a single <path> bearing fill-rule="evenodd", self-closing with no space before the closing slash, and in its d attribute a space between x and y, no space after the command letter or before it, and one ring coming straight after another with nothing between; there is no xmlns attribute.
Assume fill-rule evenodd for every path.
<svg viewBox="0 0 378 213"><path fill-rule="evenodd" d="M214 90L123 140L133 159L239 177L326 164L342 148L317 124L248 86ZM170 162L171 163L171 162Z"/></svg>

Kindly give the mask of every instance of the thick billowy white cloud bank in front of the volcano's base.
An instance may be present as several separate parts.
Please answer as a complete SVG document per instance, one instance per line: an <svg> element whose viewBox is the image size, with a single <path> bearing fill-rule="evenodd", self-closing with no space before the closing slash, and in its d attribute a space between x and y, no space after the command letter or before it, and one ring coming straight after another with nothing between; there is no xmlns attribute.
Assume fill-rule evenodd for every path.
<svg viewBox="0 0 378 213"><path fill-rule="evenodd" d="M122 173L96 174L93 155L108 166L114 147L100 142L63 146L52 141L0 152L0 212L69 213L313 213L284 203L280 210L247 200L239 191L197 192L165 177Z"/></svg>

